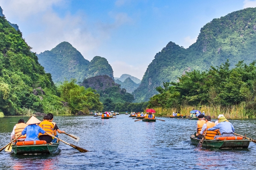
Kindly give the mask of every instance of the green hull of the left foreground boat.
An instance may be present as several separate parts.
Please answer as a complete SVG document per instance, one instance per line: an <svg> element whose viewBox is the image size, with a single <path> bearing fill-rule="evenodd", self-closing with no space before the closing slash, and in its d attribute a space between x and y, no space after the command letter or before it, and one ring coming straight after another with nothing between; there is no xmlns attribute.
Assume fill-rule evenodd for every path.
<svg viewBox="0 0 256 170"><path fill-rule="evenodd" d="M56 153L58 147L60 145L60 141L58 143L45 144L45 145L25 145L25 146L17 146L13 145L12 150L16 155L22 154L54 154Z"/></svg>

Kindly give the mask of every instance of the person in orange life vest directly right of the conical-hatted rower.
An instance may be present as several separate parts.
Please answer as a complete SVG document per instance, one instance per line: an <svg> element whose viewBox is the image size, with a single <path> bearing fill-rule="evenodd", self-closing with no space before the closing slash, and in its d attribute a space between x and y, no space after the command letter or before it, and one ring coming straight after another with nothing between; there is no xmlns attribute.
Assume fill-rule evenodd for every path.
<svg viewBox="0 0 256 170"><path fill-rule="evenodd" d="M44 116L44 121L42 121L38 126L40 126L46 133L49 133L51 135L56 136L56 131L53 131L54 129L54 124L50 122L50 117L48 115ZM47 134L42 134L39 133L39 139L41 141L46 141L46 143L52 142L53 137L47 135Z"/></svg>

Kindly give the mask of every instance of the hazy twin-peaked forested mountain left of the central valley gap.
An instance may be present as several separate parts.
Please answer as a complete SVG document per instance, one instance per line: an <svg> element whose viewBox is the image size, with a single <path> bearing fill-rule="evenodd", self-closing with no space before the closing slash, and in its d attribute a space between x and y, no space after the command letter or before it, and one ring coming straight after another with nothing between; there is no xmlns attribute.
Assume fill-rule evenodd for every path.
<svg viewBox="0 0 256 170"><path fill-rule="evenodd" d="M82 82L84 78L97 75L108 75L114 79L113 69L105 58L95 56L89 62L68 42L62 42L52 50L37 56L38 62L45 71L52 74L54 82L63 82L65 78L67 80L75 78L78 82Z"/></svg>

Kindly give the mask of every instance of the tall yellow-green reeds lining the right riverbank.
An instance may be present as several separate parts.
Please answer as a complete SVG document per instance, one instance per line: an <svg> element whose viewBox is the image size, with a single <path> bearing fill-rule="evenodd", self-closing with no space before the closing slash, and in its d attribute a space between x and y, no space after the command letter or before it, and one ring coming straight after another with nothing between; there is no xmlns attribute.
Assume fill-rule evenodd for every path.
<svg viewBox="0 0 256 170"><path fill-rule="evenodd" d="M200 107L197 106L181 106L180 113L182 115L189 116L189 112L192 109L200 110L201 112L205 112L205 115L211 116L211 118L217 118L219 114L223 114L226 118L249 118L249 115L246 114L246 109L243 104L240 105L233 105L233 106L205 106L202 105ZM177 111L177 108L162 108L157 107L154 108L156 111L156 116L170 116L173 112ZM254 117L254 116L253 116Z"/></svg>

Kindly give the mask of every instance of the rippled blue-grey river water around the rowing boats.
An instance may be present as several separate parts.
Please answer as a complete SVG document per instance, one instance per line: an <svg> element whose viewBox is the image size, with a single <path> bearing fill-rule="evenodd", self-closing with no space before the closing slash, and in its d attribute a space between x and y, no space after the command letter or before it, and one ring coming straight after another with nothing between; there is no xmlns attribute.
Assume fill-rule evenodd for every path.
<svg viewBox="0 0 256 170"><path fill-rule="evenodd" d="M10 141L11 131L20 118L0 118L0 147ZM42 117L38 117L42 119ZM56 154L15 155L2 151L2 170L105 170L105 169L256 169L256 144L248 149L196 149L189 134L196 129L196 120L170 119L165 122L134 122L128 115L112 119L93 116L56 116L60 130L80 137L76 143L59 134L66 142L89 150L79 153L61 143ZM236 133L256 138L256 120L230 120Z"/></svg>

